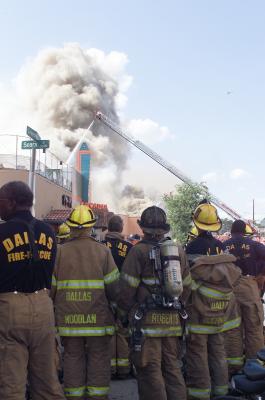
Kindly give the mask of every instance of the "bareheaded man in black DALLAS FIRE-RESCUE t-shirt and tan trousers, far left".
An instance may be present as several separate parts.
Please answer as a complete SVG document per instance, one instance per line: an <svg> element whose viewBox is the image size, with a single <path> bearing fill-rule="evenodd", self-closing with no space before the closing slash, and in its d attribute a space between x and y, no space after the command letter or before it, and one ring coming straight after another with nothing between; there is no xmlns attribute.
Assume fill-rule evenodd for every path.
<svg viewBox="0 0 265 400"><path fill-rule="evenodd" d="M31 214L33 193L20 181L0 189L0 398L61 400L49 297L56 256L53 230Z"/></svg>

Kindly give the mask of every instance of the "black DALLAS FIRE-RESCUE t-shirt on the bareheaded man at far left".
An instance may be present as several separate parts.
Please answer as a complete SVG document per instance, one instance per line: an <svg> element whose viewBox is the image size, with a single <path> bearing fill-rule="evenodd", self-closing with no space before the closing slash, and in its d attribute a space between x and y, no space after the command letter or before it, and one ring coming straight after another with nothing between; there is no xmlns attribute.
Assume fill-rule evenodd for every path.
<svg viewBox="0 0 265 400"><path fill-rule="evenodd" d="M35 251L30 245L31 223ZM30 211L14 214L0 224L0 293L50 289L55 256L56 241L49 225L33 218Z"/></svg>

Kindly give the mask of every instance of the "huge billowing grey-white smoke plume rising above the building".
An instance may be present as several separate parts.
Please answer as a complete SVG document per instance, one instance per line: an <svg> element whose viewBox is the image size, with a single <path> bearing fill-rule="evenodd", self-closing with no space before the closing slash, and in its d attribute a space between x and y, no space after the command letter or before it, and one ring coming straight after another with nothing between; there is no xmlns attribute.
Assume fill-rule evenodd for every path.
<svg viewBox="0 0 265 400"><path fill-rule="evenodd" d="M21 134L30 125L43 139L51 139L51 150L66 161L97 111L120 123L132 83L127 63L124 53L83 49L77 43L40 51L23 66L12 87L0 86L0 132ZM142 133L147 142L170 136L168 128L150 119L132 120L125 127L138 138ZM99 122L87 138L93 153L92 200L108 202L116 211L142 211L150 199L128 187L120 204L130 146Z"/></svg>

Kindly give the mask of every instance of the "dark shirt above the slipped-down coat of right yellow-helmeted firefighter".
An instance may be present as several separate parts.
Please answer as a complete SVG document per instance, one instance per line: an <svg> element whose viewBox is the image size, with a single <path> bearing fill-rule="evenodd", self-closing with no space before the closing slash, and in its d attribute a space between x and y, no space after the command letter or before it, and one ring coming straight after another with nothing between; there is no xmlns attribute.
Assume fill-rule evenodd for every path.
<svg viewBox="0 0 265 400"><path fill-rule="evenodd" d="M210 232L202 232L196 239L188 243L186 253L212 256L222 253L224 249L223 243L215 239Z"/></svg>

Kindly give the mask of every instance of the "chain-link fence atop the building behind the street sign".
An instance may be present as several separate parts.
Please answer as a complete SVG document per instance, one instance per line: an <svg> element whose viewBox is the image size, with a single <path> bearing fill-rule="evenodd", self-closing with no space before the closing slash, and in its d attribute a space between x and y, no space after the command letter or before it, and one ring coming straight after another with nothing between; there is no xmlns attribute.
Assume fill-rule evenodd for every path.
<svg viewBox="0 0 265 400"><path fill-rule="evenodd" d="M30 169L32 150L21 149L27 136L0 135L0 169ZM35 172L65 189L72 190L72 169L49 150L36 151Z"/></svg>

